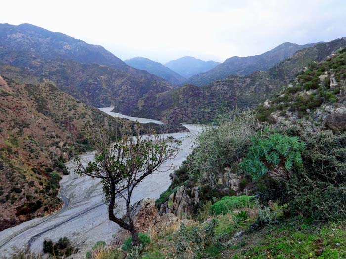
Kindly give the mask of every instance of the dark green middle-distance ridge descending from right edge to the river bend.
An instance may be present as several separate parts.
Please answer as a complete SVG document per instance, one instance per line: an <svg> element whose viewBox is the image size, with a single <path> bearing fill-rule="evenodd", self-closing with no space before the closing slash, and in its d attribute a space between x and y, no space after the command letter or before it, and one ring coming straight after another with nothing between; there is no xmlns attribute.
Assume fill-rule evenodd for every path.
<svg viewBox="0 0 346 259"><path fill-rule="evenodd" d="M244 109L264 102L292 81L305 66L313 61L321 61L345 46L344 39L320 43L296 52L266 72L232 75L200 88L185 85L173 91L147 94L139 101L138 109L133 114L184 122L212 121L218 113L236 106Z"/></svg>

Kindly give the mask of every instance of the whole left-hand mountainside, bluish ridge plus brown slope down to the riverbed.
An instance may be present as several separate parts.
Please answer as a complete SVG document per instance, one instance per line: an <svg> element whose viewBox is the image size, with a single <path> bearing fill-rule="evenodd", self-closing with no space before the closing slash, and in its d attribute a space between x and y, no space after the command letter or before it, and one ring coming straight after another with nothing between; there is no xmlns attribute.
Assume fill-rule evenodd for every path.
<svg viewBox="0 0 346 259"><path fill-rule="evenodd" d="M170 89L103 47L33 25L1 24L0 231L60 208L64 162L92 148L89 131L107 128L115 138L125 125L134 127L93 106L122 104L115 107L130 112L145 93ZM141 128L186 130L180 124Z"/></svg>

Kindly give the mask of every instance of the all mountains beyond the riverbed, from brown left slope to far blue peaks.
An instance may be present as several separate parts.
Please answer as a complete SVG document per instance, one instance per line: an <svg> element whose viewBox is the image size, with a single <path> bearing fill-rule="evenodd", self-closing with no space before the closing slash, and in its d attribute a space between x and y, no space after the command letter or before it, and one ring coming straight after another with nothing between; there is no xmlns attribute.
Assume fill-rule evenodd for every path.
<svg viewBox="0 0 346 259"><path fill-rule="evenodd" d="M113 129L115 137L125 124L133 127L95 107L174 122L157 132L184 130L175 122L211 122L265 101L346 40L311 45L284 43L270 53L231 58L228 67L184 57L167 68L143 58L123 62L101 46L30 24L0 24L0 231L60 208L64 162L92 148L86 128ZM216 66L227 67L225 79L178 87L184 77Z"/></svg>

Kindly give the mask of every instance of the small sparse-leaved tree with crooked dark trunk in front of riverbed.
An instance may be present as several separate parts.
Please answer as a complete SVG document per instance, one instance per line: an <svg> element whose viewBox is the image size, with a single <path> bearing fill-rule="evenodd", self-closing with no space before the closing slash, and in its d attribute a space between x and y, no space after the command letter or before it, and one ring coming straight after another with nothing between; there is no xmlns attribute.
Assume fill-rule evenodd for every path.
<svg viewBox="0 0 346 259"><path fill-rule="evenodd" d="M171 168L178 151L177 144L165 140L164 135L139 135L138 128L134 132L123 132L122 137L114 143L106 130L99 130L93 136L93 142L96 148L95 161L84 166L81 158L77 157L75 172L101 179L108 205L108 218L130 231L133 245L138 246L138 231L130 212L133 190L145 177L158 171L164 162L167 161L168 167L165 166L163 171ZM125 219L114 212L117 197L125 201Z"/></svg>

